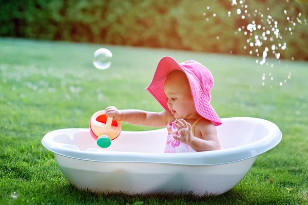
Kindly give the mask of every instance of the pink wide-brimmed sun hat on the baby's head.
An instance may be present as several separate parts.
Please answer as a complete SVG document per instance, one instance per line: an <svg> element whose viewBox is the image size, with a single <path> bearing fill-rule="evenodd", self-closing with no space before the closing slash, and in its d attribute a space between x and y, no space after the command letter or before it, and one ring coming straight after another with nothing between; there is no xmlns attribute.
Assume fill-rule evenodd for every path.
<svg viewBox="0 0 308 205"><path fill-rule="evenodd" d="M157 65L151 83L145 89L165 110L169 110L163 85L167 74L175 69L182 70L186 74L197 113L210 120L215 126L221 125L221 119L210 104L210 90L214 86L213 76L206 67L197 61L178 63L171 57L163 57Z"/></svg>

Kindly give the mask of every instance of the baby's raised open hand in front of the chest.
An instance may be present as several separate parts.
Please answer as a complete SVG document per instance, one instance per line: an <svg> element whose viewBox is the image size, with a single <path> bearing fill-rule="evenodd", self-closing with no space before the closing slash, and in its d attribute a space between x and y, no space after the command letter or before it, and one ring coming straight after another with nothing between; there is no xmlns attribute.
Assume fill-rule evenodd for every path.
<svg viewBox="0 0 308 205"><path fill-rule="evenodd" d="M179 132L179 136L174 136L174 139L185 144L190 144L194 139L194 136L191 133L191 125L183 119L176 119L174 125L177 127Z"/></svg>

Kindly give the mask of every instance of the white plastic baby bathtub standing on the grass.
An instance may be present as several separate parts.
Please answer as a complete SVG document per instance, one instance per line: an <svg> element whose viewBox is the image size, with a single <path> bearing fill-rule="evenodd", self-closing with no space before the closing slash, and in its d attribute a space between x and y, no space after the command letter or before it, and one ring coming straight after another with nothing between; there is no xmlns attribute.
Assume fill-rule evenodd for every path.
<svg viewBox="0 0 308 205"><path fill-rule="evenodd" d="M248 117L223 118L222 150L165 154L167 129L127 132L108 148L99 147L88 128L49 132L42 144L55 153L66 179L93 192L222 194L249 171L258 155L282 137L277 125Z"/></svg>

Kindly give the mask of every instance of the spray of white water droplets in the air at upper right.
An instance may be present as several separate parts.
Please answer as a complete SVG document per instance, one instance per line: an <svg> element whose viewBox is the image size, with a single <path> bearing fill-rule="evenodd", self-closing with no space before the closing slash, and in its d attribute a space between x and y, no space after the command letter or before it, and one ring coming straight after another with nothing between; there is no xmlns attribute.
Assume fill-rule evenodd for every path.
<svg viewBox="0 0 308 205"><path fill-rule="evenodd" d="M246 36L246 45L243 46L247 52L255 56L255 62L261 66L270 66L274 67L274 63L268 63L267 58L273 57L278 63L280 63L280 57L283 55L283 52L288 50L287 43L284 41L283 36L293 35L293 32L296 26L306 26L306 19L302 19L302 14L299 12L297 15L289 15L287 10L283 10L281 13L288 22L287 25L279 23L279 20L276 20L271 15L271 9L266 8L266 11L261 9L249 8L245 4L245 0L230 0L233 11L228 11L228 17L231 15L239 15L243 20L245 19L249 22L246 26L239 27L235 34L242 32ZM285 0L288 3L288 0ZM207 10L209 7L207 7ZM293 10L293 8L292 8ZM275 11L276 12L276 11ZM205 15L205 13L203 14ZM214 17L216 16L213 15ZM208 21L208 18L207 20ZM219 40L219 36L216 38ZM230 51L232 53L232 51ZM294 60L294 57L291 57L291 60ZM274 81L272 73L268 73L269 79ZM261 85L265 85L265 73L262 75ZM291 80L291 73L288 73L286 78L283 81L279 81L279 85L282 86L288 80ZM271 88L273 86L271 85Z"/></svg>

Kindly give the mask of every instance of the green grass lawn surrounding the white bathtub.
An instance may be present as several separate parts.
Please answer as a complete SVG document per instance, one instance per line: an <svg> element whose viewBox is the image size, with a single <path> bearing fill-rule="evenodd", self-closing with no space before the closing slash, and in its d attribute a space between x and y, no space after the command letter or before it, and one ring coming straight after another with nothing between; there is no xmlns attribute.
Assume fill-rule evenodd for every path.
<svg viewBox="0 0 308 205"><path fill-rule="evenodd" d="M101 47L113 53L107 70L92 65L93 52ZM211 70L211 103L221 118L270 120L280 127L282 141L260 155L235 188L216 197L77 190L41 139L54 129L88 127L91 115L109 105L162 110L145 87L164 55L180 62L194 59ZM308 63L269 59L268 66L261 66L255 61L234 55L0 39L0 204L308 204ZM123 130L146 129L154 128L123 123Z"/></svg>

